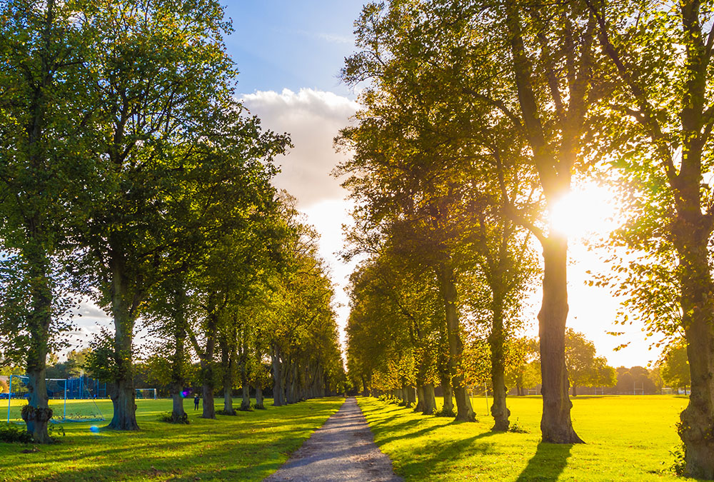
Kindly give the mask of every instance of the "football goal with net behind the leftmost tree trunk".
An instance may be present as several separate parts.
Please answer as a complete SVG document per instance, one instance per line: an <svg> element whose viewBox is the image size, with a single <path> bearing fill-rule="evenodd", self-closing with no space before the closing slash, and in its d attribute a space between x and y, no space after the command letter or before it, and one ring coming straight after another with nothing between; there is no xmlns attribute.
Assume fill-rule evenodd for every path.
<svg viewBox="0 0 714 482"><path fill-rule="evenodd" d="M29 377L11 375L7 400L7 423L22 422L22 407L27 404ZM52 410L53 422L104 421L94 395L83 386L79 399L69 400L70 383L67 378L45 378L47 406Z"/></svg>

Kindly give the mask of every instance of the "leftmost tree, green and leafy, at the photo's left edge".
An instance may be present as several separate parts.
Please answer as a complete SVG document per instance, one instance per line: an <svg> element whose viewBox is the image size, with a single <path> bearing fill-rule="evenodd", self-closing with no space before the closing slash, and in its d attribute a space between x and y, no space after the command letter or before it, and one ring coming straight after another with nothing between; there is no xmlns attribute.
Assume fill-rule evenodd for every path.
<svg viewBox="0 0 714 482"><path fill-rule="evenodd" d="M46 355L74 303L76 240L69 231L84 223L99 185L84 129L93 116L91 81L81 66L91 32L78 26L75 12L74 1L0 6L0 321L9 325L2 330L6 353L24 358L24 420L38 443L51 441Z"/></svg>

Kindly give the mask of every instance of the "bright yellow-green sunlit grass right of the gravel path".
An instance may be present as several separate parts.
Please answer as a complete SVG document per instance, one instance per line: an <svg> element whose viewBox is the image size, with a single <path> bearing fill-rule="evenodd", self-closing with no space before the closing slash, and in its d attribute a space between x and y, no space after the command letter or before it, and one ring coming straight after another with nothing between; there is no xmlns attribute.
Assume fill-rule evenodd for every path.
<svg viewBox="0 0 714 482"><path fill-rule="evenodd" d="M540 396L508 397L511 423L529 433L492 433L486 401L477 423L423 416L358 397L381 450L407 481L682 481L665 469L678 445L683 396L578 396L573 426L585 444L539 443ZM693 480L693 479L687 479Z"/></svg>

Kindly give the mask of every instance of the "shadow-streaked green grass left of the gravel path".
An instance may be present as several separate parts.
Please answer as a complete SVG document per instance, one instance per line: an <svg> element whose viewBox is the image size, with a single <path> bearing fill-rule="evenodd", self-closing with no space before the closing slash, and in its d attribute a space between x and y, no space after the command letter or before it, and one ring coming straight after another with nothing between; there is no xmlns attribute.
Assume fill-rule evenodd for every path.
<svg viewBox="0 0 714 482"><path fill-rule="evenodd" d="M92 433L90 426L111 420L111 401L98 401L108 421L63 423L61 443L36 446L34 453L22 453L32 446L0 443L0 481L260 481L343 401L320 398L273 407L266 400L267 410L203 420L191 398L184 401L191 424L179 426L157 421L171 410L171 400L138 400L141 431ZM216 408L222 407L217 399ZM5 410L0 408L3 422Z"/></svg>

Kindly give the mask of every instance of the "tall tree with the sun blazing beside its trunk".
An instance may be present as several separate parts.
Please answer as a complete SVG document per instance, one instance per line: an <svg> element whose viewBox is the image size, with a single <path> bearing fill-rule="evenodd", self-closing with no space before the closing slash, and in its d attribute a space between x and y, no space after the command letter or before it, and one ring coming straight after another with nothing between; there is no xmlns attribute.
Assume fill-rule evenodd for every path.
<svg viewBox="0 0 714 482"><path fill-rule="evenodd" d="M497 45L508 46L508 55L496 60L508 73L507 84L500 93L483 85L476 95L484 96L521 130L532 153L528 161L535 166L552 212L570 191L573 173L583 161L581 141L595 95L590 89L593 16L575 3L526 6L499 1L491 6L483 34ZM568 240L552 221L543 230L517 212L513 215L543 246L543 303L538 313L543 441L581 443L570 421L565 366Z"/></svg>

